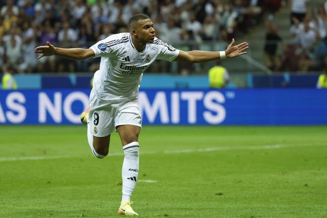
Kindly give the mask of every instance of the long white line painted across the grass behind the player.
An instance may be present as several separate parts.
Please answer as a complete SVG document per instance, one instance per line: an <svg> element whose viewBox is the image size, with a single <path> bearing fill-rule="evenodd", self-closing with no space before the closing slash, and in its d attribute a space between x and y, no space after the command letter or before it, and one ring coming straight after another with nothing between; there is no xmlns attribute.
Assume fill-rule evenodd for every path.
<svg viewBox="0 0 327 218"><path fill-rule="evenodd" d="M297 147L325 147L327 143L298 143L298 144L273 144L262 146L224 146L214 148L199 148L199 149L185 149L185 150L165 150L165 151L144 151L140 152L141 155L148 154L181 154L181 153L197 153L197 152L210 152L210 151L232 151L232 150L265 150L265 149L277 149L277 148L297 148ZM109 153L110 156L124 156L120 153ZM7 161L25 161L25 160L46 160L46 159L63 159L72 158L76 156L44 156L44 157L0 157L0 162Z"/></svg>

